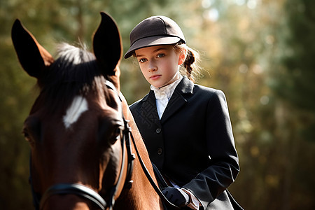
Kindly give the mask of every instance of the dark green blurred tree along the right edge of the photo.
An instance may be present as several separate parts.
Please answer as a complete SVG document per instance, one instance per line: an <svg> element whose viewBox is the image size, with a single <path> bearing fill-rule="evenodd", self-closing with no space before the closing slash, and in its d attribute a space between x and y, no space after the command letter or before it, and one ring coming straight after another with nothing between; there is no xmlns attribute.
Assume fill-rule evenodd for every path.
<svg viewBox="0 0 315 210"><path fill-rule="evenodd" d="M284 4L269 87L276 97L275 135L281 141L282 209L314 209L315 170L315 12L314 1Z"/></svg>

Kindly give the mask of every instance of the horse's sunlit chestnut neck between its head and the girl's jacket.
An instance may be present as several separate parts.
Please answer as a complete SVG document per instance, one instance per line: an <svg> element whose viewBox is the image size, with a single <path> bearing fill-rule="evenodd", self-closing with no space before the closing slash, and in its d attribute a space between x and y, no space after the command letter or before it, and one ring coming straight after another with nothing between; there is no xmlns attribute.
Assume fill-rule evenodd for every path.
<svg viewBox="0 0 315 210"><path fill-rule="evenodd" d="M146 165L148 172L151 174L153 180L157 184L153 168L151 165L151 161L148 155L148 151L146 151L146 146L144 145L144 141L142 140L141 134L137 128L136 123L134 122L134 118L132 117L132 113L127 106L125 98L123 98L123 112L125 118L127 120L130 120L129 125L132 129L132 135L137 144L137 148L141 155L141 159L144 161L144 164ZM133 153L135 153L135 149L132 148L132 150ZM153 186L151 186L151 183L148 181L148 178L144 174L144 171L139 162L139 157L137 155L136 160L134 160L132 181L134 181L132 184L132 188L130 188L130 190L124 190L125 192L123 193L125 195L122 196L123 199L128 200L128 202L125 202L127 206L119 209L163 209L160 197L158 196L157 193L155 193ZM124 205L123 204L124 202L120 203Z"/></svg>

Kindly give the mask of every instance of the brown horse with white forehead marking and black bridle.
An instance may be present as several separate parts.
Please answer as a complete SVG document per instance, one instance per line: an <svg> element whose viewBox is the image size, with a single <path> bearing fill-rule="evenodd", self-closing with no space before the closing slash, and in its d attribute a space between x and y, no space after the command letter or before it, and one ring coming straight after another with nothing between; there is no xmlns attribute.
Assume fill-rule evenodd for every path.
<svg viewBox="0 0 315 210"><path fill-rule="evenodd" d="M13 25L20 64L41 90L23 128L36 209L111 209L115 201L114 209L163 209L141 167L142 159L156 183L120 93L120 32L109 15L101 15L94 53L63 44L57 59L19 20Z"/></svg>

